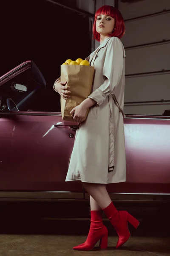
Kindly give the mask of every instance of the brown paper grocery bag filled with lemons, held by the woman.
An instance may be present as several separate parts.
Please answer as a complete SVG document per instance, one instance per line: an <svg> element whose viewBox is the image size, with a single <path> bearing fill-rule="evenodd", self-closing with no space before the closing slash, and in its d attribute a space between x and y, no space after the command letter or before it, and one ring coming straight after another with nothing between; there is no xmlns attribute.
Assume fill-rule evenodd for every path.
<svg viewBox="0 0 170 256"><path fill-rule="evenodd" d="M61 65L61 81L67 81L66 85L70 86L69 90L71 90L70 98L65 100L61 97L63 120L74 121L70 111L91 94L93 76L94 67L85 65Z"/></svg>

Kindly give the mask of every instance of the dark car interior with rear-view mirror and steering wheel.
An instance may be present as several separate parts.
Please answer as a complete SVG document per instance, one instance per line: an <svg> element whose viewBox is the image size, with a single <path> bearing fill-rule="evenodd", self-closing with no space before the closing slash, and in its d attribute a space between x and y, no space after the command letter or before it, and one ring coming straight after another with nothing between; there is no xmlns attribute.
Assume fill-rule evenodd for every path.
<svg viewBox="0 0 170 256"><path fill-rule="evenodd" d="M45 79L33 61L31 68L17 73L16 67L0 79L0 111L31 111L45 91Z"/></svg>

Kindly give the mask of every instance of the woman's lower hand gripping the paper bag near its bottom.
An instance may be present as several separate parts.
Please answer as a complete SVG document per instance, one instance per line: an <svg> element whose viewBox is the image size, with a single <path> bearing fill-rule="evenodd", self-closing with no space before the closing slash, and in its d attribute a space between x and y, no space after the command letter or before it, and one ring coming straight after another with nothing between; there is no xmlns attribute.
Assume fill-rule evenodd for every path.
<svg viewBox="0 0 170 256"><path fill-rule="evenodd" d="M78 105L75 108L72 109L70 112L71 116L73 116L73 119L75 122L83 122L85 121L85 116L88 111L88 107L85 107L83 105Z"/></svg>

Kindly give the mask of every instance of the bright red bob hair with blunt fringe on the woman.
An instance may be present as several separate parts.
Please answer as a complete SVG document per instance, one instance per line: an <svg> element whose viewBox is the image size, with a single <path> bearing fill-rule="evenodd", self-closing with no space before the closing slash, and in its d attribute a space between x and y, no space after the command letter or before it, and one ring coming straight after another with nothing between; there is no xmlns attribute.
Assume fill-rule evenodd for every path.
<svg viewBox="0 0 170 256"><path fill-rule="evenodd" d="M125 34L125 23L124 23L122 14L119 12L118 9L114 8L113 6L102 6L95 13L94 25L93 25L93 34L94 34L93 39L100 41L100 34L96 31L96 20L97 20L97 16L101 14L109 15L115 19L113 33L108 35L121 38Z"/></svg>

